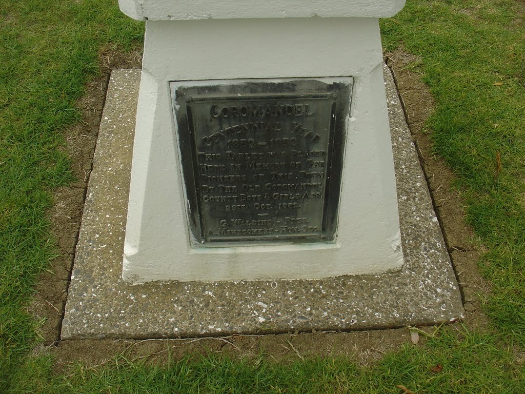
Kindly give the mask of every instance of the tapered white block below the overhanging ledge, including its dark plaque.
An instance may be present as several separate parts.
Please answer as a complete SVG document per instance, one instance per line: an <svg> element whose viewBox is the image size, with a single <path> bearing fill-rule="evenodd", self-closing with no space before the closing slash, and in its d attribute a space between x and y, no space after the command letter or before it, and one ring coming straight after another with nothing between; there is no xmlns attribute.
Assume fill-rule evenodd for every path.
<svg viewBox="0 0 525 394"><path fill-rule="evenodd" d="M401 269L382 64L378 18L148 19L122 278Z"/></svg>

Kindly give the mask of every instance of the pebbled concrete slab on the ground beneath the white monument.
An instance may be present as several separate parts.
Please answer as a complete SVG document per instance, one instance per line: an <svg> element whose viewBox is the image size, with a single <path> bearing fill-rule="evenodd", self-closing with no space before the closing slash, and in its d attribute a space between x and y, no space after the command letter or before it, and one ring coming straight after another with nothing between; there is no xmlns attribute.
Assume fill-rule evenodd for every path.
<svg viewBox="0 0 525 394"><path fill-rule="evenodd" d="M386 66L385 80L405 258L401 271L310 281L130 285L120 275L140 70L113 71L61 338L354 330L463 318L443 234Z"/></svg>

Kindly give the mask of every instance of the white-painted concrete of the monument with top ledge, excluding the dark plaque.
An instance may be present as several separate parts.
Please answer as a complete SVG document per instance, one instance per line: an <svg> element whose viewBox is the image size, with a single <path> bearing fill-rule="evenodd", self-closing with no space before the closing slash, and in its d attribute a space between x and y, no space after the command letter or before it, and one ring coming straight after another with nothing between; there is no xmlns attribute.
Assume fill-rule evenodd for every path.
<svg viewBox="0 0 525 394"><path fill-rule="evenodd" d="M377 18L394 15L404 1L288 3L120 0L124 13L147 18L126 281L309 279L401 268ZM180 165L188 147L178 146L170 81L296 77L354 78L337 240L192 248Z"/></svg>

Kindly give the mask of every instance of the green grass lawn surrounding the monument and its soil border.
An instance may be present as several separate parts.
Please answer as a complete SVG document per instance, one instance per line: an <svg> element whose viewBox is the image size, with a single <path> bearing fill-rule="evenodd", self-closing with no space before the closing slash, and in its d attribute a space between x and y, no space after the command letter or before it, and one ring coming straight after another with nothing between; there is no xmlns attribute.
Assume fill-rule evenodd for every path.
<svg viewBox="0 0 525 394"><path fill-rule="evenodd" d="M128 360L55 372L34 355L27 312L38 275L57 253L46 210L72 181L64 131L98 75L98 54L141 45L143 25L117 1L0 3L0 392L525 392L525 4L521 0L407 0L382 21L385 50L414 67L435 98L425 125L456 175L466 221L487 252L484 309L493 330L439 328L373 366L349 358L254 362L216 356ZM499 159L498 159L499 158ZM498 168L499 160L499 168ZM521 355L521 356L520 356ZM438 368L438 366L442 367Z"/></svg>

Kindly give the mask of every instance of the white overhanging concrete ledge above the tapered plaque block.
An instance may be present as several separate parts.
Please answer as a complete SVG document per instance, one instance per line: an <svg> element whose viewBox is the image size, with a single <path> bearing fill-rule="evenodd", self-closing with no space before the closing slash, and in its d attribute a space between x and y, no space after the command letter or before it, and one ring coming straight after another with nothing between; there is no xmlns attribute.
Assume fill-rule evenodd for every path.
<svg viewBox="0 0 525 394"><path fill-rule="evenodd" d="M397 14L405 0L119 0L137 20L367 17Z"/></svg>

